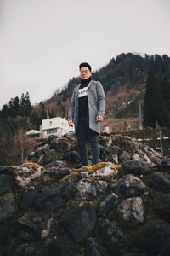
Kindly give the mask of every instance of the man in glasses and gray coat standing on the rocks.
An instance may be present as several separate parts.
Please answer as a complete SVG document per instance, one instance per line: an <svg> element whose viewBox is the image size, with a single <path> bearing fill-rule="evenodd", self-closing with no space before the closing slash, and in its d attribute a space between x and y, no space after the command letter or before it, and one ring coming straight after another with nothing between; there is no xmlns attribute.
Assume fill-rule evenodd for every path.
<svg viewBox="0 0 170 256"><path fill-rule="evenodd" d="M75 125L77 146L82 166L88 166L86 143L92 147L92 164L99 162L100 122L105 115L105 92L98 81L92 79L92 68L87 62L79 65L81 84L77 85L71 97L68 123Z"/></svg>

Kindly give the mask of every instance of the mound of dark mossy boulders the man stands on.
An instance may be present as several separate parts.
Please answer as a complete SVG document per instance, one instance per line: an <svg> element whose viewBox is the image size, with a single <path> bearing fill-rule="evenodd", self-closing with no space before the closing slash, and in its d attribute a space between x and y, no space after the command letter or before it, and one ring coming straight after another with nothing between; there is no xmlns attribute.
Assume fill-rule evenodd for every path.
<svg viewBox="0 0 170 256"><path fill-rule="evenodd" d="M95 166L77 169L68 134L0 167L0 255L170 255L170 158L130 137L99 143Z"/></svg>

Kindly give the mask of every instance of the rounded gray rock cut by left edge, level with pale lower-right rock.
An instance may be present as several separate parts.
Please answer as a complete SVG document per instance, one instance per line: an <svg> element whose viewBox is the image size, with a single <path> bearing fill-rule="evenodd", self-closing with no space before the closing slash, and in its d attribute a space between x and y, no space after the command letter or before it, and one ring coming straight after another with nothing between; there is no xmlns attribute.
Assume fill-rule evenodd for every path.
<svg viewBox="0 0 170 256"><path fill-rule="evenodd" d="M7 218L13 217L17 210L17 202L12 193L7 193L0 196L0 222L6 220Z"/></svg>

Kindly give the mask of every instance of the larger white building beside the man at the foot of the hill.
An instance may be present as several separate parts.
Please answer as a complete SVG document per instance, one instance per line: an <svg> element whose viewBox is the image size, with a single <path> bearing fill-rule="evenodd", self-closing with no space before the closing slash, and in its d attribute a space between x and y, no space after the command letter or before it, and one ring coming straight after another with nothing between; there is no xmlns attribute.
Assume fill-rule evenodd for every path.
<svg viewBox="0 0 170 256"><path fill-rule="evenodd" d="M74 131L73 127L68 125L68 121L61 117L55 117L52 119L43 119L42 125L40 125L40 132L42 137L48 137L49 135L63 136L67 132Z"/></svg>

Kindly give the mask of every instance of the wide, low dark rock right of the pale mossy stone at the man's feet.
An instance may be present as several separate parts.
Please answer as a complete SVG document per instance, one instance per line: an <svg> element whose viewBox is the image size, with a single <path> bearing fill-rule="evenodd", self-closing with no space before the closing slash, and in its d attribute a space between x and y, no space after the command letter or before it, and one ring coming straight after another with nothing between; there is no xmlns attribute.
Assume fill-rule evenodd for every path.
<svg viewBox="0 0 170 256"><path fill-rule="evenodd" d="M145 161L139 160L128 160L122 163L123 170L127 173L133 173L135 175L148 175L150 172L154 171L154 168L150 166Z"/></svg>

